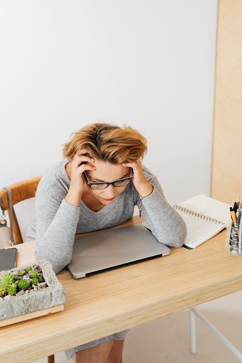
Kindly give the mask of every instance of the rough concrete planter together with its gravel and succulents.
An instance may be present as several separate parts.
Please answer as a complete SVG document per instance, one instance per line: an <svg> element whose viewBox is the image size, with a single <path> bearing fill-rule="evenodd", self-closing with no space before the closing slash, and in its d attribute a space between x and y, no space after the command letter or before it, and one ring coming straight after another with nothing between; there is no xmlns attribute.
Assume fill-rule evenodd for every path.
<svg viewBox="0 0 242 363"><path fill-rule="evenodd" d="M34 273L30 273L31 269L28 275L22 274L24 270L28 270L28 268L33 266L36 266L33 271ZM8 294L3 298L0 297L0 320L60 305L66 300L65 289L59 282L48 260L37 260L7 272L15 275L17 279L12 284L17 285L17 287L12 286L11 293L14 293L16 289L15 294ZM0 279L5 274L6 271L1 271ZM38 282L34 280L33 284L32 281L36 278L38 278ZM24 280L26 280L26 283ZM21 283L21 281L23 282ZM26 285L26 287L20 289L18 285Z"/></svg>

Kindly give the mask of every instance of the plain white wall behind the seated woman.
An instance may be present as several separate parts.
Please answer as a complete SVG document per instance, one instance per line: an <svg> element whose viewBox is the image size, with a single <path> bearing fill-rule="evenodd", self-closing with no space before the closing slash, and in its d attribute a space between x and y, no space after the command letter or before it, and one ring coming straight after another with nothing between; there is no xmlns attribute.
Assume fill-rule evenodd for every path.
<svg viewBox="0 0 242 363"><path fill-rule="evenodd" d="M142 130L174 204L209 195L216 0L0 2L0 188L96 121ZM33 201L17 206L22 231Z"/></svg>

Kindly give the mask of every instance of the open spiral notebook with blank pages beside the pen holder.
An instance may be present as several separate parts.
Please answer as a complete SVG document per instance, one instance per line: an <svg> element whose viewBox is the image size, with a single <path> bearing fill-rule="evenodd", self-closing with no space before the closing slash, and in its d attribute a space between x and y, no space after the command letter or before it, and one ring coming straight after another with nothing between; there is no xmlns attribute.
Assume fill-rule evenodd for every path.
<svg viewBox="0 0 242 363"><path fill-rule="evenodd" d="M226 228L231 219L229 207L203 194L175 204L174 208L181 214L187 227L183 247L195 248Z"/></svg>

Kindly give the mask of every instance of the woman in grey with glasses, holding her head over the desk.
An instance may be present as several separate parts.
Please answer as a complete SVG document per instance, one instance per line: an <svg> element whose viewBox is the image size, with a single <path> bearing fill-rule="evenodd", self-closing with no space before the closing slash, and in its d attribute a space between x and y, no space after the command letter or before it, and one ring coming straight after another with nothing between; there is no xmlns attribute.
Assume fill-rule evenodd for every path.
<svg viewBox="0 0 242 363"><path fill-rule="evenodd" d="M166 202L156 177L141 164L144 136L131 127L93 123L64 144L64 161L51 167L36 192L35 217L27 241L35 257L48 259L56 273L71 261L76 233L120 225L135 205L159 242L181 247L186 227ZM115 333L65 351L76 363L121 363L125 333Z"/></svg>

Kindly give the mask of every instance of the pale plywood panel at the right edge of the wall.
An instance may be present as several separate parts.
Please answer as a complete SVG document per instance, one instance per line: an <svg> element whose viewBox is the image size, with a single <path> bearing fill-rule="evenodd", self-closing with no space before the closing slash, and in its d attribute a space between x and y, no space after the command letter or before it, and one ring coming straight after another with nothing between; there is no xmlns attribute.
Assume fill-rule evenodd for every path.
<svg viewBox="0 0 242 363"><path fill-rule="evenodd" d="M242 1L220 0L216 51L211 196L242 197Z"/></svg>

